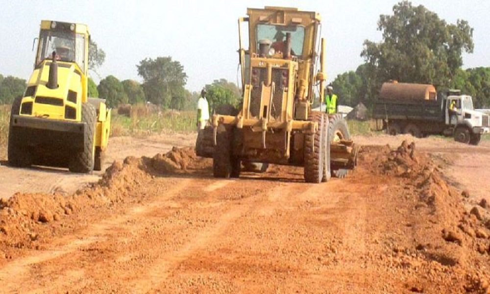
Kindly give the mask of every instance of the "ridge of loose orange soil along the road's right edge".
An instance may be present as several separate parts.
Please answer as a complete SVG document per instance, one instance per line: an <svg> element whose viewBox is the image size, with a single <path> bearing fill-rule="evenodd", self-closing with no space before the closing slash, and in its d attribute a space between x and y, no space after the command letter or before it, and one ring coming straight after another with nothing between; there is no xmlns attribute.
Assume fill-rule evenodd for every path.
<svg viewBox="0 0 490 294"><path fill-rule="evenodd" d="M455 292L486 293L490 274L490 215L482 201L469 211L466 192L459 193L449 186L430 157L419 154L415 143L404 141L392 150L389 146L363 147L360 160L370 167L374 176L398 179L402 191L384 193L387 209L399 218L393 222L393 234L387 235L386 245L393 256L389 267L424 272L431 282L447 283ZM390 224L387 224L390 225ZM401 228L400 228L401 227ZM407 238L410 236L410 239ZM440 281L441 275L447 281ZM412 289L413 288L413 289ZM408 287L423 292L419 284Z"/></svg>

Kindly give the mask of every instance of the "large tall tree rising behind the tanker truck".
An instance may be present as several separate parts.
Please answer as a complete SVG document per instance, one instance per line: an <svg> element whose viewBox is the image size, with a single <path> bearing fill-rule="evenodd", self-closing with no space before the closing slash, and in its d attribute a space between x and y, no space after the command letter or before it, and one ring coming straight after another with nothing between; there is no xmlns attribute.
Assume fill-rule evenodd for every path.
<svg viewBox="0 0 490 294"><path fill-rule="evenodd" d="M463 65L462 53L473 52L473 28L466 21L447 24L409 1L394 5L393 15L381 15L378 30L383 41L366 40L361 52L371 74L369 83L378 89L390 79L447 85Z"/></svg>

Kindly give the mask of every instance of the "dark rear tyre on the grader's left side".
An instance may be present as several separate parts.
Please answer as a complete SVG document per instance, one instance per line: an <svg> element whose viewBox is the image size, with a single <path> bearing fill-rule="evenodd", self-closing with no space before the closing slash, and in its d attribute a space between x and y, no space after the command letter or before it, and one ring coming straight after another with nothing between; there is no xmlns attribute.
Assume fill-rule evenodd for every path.
<svg viewBox="0 0 490 294"><path fill-rule="evenodd" d="M229 178L232 172L230 132L222 124L218 126L217 131L217 144L213 153L213 176L217 178Z"/></svg>

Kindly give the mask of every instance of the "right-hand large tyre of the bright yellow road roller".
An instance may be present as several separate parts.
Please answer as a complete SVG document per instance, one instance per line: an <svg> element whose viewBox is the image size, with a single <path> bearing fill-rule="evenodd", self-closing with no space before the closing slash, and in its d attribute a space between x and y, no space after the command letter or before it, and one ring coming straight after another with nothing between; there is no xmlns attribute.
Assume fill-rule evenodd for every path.
<svg viewBox="0 0 490 294"><path fill-rule="evenodd" d="M94 105L82 103L82 123L85 123L83 133L83 150L75 152L70 160L70 172L92 172L95 161L95 125L97 113Z"/></svg>

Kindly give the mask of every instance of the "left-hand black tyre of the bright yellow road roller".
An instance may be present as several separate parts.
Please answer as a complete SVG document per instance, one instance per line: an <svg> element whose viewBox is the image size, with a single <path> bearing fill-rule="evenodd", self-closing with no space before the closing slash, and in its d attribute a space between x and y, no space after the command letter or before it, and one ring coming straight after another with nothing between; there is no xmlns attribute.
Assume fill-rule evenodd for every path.
<svg viewBox="0 0 490 294"><path fill-rule="evenodd" d="M21 111L22 97L17 97L12 102L10 109L10 124L8 128L8 143L7 143L7 161L8 165L18 168L29 167L32 163L32 157L28 150L23 145L26 138L21 138L20 134L15 131L13 125L13 115L18 115Z"/></svg>

